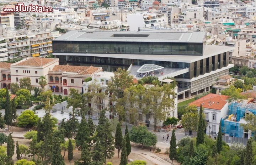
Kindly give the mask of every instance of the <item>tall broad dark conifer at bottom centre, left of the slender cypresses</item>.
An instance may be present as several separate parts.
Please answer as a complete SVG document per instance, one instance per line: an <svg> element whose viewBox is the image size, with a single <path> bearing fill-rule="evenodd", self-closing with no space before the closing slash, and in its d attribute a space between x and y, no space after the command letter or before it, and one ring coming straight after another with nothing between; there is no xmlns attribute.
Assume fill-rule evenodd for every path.
<svg viewBox="0 0 256 165"><path fill-rule="evenodd" d="M98 120L98 126L96 128L96 139L100 141L100 145L103 148L103 160L106 163L107 159L111 159L114 155L114 137L112 135L112 130L110 129L110 124L105 116L105 109L101 110L100 118Z"/></svg>

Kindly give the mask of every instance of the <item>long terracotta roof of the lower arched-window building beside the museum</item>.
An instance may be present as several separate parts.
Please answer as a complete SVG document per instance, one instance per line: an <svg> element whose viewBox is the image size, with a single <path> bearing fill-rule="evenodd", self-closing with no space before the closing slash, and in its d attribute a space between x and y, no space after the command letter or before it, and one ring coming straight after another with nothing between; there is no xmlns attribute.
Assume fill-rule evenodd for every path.
<svg viewBox="0 0 256 165"><path fill-rule="evenodd" d="M65 71L65 72L75 72L78 74L94 74L96 71L102 71L100 67L85 67L85 66L69 66L69 65L55 65L52 69L53 71Z"/></svg>

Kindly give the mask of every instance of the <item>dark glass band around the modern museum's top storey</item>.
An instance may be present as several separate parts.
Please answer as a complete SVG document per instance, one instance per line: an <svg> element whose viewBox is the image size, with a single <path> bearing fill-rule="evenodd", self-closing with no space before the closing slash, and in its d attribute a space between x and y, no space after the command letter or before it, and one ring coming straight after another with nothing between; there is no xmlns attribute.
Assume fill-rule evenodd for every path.
<svg viewBox="0 0 256 165"><path fill-rule="evenodd" d="M53 53L202 55L202 43L53 41Z"/></svg>

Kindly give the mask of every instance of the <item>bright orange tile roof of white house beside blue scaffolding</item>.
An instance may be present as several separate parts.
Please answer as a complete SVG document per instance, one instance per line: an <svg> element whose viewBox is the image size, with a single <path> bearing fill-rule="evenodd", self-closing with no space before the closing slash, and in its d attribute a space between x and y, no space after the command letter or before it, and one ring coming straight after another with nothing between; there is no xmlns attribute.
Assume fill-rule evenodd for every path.
<svg viewBox="0 0 256 165"><path fill-rule="evenodd" d="M221 110L227 103L226 100L228 98L228 96L209 93L208 95L193 101L190 103L190 105L196 105L197 107L200 107L202 104L203 108Z"/></svg>

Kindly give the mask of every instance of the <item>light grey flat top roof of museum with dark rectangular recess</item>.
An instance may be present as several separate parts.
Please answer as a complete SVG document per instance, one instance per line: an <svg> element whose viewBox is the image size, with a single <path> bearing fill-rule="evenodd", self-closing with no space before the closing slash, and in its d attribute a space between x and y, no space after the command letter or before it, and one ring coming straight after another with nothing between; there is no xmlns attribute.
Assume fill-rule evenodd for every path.
<svg viewBox="0 0 256 165"><path fill-rule="evenodd" d="M72 30L54 41L188 42L203 43L206 32L113 32Z"/></svg>

